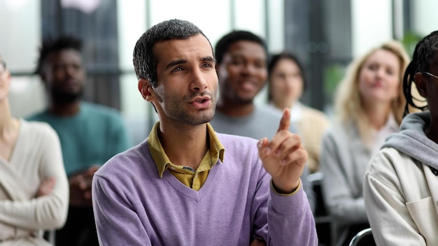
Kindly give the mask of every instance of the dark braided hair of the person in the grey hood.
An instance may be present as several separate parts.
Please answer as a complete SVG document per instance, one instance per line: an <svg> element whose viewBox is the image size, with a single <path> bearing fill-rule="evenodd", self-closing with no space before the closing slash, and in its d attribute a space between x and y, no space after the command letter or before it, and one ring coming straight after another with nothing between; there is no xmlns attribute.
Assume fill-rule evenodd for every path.
<svg viewBox="0 0 438 246"><path fill-rule="evenodd" d="M427 103L423 106L418 106L414 100L418 101L415 96L412 96L411 86L414 82L414 75L416 73L423 73L429 70L430 61L438 52L438 31L433 31L428 36L425 36L417 43L412 56L412 61L406 68L403 76L403 94L406 98L406 105L404 106L404 115L409 114L409 106L418 108L419 110L427 110Z"/></svg>

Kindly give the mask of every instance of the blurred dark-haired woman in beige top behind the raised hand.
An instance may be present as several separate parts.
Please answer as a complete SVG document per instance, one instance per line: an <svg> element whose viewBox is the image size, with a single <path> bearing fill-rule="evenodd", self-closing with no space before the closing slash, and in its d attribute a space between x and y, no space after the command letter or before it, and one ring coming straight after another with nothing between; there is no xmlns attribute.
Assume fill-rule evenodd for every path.
<svg viewBox="0 0 438 246"><path fill-rule="evenodd" d="M308 86L304 69L290 52L271 56L268 64L268 101L278 110L290 108L290 121L297 126L303 145L309 153L307 165L311 173L319 169L320 145L330 120L320 110L302 104L302 94Z"/></svg>

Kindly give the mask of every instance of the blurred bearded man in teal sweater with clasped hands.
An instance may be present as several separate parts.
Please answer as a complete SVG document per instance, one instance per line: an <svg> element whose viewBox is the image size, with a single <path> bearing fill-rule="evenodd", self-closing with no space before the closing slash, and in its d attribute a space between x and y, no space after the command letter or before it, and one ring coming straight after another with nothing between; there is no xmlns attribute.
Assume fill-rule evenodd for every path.
<svg viewBox="0 0 438 246"><path fill-rule="evenodd" d="M60 36L43 41L36 73L48 95L48 108L29 120L48 122L57 131L69 177L70 206L57 245L98 245L91 201L94 172L130 147L117 110L81 100L85 68L82 41Z"/></svg>

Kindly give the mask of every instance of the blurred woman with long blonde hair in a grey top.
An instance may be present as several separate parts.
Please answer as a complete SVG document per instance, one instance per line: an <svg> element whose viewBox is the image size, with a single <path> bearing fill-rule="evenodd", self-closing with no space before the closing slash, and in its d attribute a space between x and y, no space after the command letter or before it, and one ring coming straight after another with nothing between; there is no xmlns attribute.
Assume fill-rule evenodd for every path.
<svg viewBox="0 0 438 246"><path fill-rule="evenodd" d="M320 156L333 245L348 245L355 233L369 227L362 180L369 160L402 122L408 64L402 44L388 41L355 59L339 84L335 120L323 137Z"/></svg>

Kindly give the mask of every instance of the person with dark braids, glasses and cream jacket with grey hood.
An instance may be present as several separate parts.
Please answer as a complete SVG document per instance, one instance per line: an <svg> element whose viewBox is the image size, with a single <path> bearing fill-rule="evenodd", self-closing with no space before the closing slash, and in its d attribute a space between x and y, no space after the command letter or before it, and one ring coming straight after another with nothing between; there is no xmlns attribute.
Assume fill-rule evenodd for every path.
<svg viewBox="0 0 438 246"><path fill-rule="evenodd" d="M426 105L411 91L413 82ZM377 245L438 245L438 31L417 43L403 91L400 131L367 166L365 208Z"/></svg>

